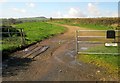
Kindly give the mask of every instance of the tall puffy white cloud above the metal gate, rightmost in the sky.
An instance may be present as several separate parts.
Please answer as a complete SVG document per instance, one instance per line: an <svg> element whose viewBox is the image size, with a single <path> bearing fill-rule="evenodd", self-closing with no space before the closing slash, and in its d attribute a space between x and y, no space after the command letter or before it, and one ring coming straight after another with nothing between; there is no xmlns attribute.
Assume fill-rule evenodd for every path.
<svg viewBox="0 0 120 83"><path fill-rule="evenodd" d="M88 13L93 16L100 16L100 10L97 8L97 6L95 4L92 3L88 3Z"/></svg>

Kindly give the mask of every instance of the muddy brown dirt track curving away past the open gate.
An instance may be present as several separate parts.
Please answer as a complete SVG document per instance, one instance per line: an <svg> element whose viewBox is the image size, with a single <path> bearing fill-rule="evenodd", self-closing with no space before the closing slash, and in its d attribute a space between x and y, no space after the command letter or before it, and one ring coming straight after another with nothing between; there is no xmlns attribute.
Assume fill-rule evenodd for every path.
<svg viewBox="0 0 120 83"><path fill-rule="evenodd" d="M68 28L64 34L46 39L27 50L14 53L23 57L33 47L49 46L46 52L37 55L34 61L30 61L27 68L15 69L12 74L5 75L4 81L114 81L117 78L106 73L106 70L92 64L86 64L75 60L75 30L84 29L77 26L61 25ZM39 52L37 50L36 52ZM32 56L32 54L31 54ZM29 59L27 59L29 60ZM19 61L19 60L18 60ZM20 68L20 67L18 67ZM8 72L6 68L3 72ZM11 70L13 70L11 68ZM10 72L10 71L9 71ZM8 72L8 73L9 73Z"/></svg>

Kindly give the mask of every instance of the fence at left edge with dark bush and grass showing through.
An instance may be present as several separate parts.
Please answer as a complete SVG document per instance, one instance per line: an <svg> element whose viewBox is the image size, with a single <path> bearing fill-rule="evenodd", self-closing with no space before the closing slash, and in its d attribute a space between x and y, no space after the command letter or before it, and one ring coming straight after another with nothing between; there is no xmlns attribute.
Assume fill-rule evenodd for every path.
<svg viewBox="0 0 120 83"><path fill-rule="evenodd" d="M0 43L2 48L6 49L9 47L20 47L26 44L25 33L22 28L1 28L0 35L2 39Z"/></svg>

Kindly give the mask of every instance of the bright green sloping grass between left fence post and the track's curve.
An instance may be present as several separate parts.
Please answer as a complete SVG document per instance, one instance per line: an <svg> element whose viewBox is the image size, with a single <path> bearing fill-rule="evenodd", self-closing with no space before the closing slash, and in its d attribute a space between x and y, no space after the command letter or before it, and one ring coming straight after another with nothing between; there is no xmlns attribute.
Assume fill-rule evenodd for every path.
<svg viewBox="0 0 120 83"><path fill-rule="evenodd" d="M24 29L28 44L63 33L66 30L62 26L45 22L23 23L15 27Z"/></svg>

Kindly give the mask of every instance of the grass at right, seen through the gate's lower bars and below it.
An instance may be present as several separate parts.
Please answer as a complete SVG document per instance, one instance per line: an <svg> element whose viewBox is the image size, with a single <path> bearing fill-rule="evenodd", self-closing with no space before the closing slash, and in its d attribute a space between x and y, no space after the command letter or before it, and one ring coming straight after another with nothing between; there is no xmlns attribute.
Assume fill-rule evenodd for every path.
<svg viewBox="0 0 120 83"><path fill-rule="evenodd" d="M98 52L98 53L118 53L118 47L97 47L91 48L88 52ZM97 55L97 54L80 54L77 56L77 59L87 63L95 64L99 67L104 67L108 70L109 73L118 73L118 68L120 63L120 55Z"/></svg>

